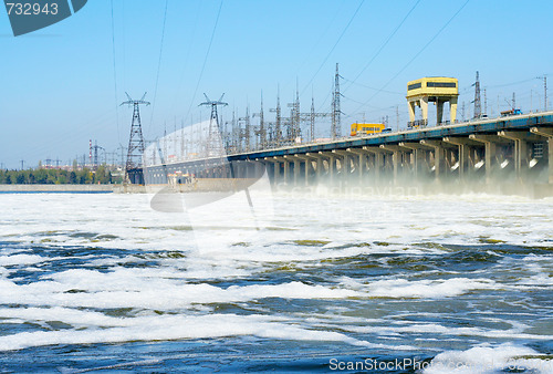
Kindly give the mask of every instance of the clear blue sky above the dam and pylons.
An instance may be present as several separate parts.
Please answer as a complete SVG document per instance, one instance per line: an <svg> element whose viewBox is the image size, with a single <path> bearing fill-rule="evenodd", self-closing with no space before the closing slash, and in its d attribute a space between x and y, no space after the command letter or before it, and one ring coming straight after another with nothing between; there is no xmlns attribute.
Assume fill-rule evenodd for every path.
<svg viewBox="0 0 553 374"><path fill-rule="evenodd" d="M126 146L132 110L117 106L125 92L148 92L146 139L206 120L204 92L226 93L229 120L248 103L258 112L262 91L270 121L279 85L285 107L298 81L305 112L312 94L330 112L336 63L343 134L386 115L395 129L396 107L405 127L406 83L422 76L459 79L467 117L477 71L489 114L509 108L513 92L523 112L543 110L538 77L553 74L552 14L550 0L91 0L14 38L0 9L0 166L65 164L88 153L88 139L108 152ZM327 137L330 124L316 132Z"/></svg>

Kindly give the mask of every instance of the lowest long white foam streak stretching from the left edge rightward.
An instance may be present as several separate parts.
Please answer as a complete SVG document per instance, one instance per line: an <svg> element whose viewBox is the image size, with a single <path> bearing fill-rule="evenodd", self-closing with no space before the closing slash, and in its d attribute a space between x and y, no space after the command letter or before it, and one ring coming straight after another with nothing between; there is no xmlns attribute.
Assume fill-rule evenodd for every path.
<svg viewBox="0 0 553 374"><path fill-rule="evenodd" d="M55 311L61 312L62 315L64 314L64 312L59 309ZM86 314L83 316L90 315ZM283 322L282 319L265 315L155 315L121 319L119 321L114 321L117 319L113 318L95 318L92 322L105 323L106 320L109 325L115 326L107 329L21 332L0 336L0 351L55 344L122 343L129 341L206 339L240 335L294 341L343 342L365 347L389 347L382 344L359 341L337 332L304 329L296 324L288 324ZM403 346L403 349L410 347Z"/></svg>

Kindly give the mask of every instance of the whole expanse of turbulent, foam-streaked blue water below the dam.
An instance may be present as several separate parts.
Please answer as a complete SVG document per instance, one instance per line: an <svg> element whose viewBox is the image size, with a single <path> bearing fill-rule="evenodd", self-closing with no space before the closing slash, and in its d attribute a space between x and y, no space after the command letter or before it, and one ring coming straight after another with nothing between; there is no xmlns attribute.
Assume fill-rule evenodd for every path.
<svg viewBox="0 0 553 374"><path fill-rule="evenodd" d="M0 194L0 371L553 372L553 199L150 198Z"/></svg>

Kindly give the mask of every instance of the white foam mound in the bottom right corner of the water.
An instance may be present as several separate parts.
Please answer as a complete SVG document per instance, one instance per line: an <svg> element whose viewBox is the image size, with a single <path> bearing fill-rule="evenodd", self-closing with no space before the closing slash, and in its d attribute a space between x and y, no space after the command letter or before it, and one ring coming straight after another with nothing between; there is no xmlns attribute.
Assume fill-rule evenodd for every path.
<svg viewBox="0 0 553 374"><path fill-rule="evenodd" d="M532 356L531 359L524 356ZM553 361L539 357L534 350L511 343L491 346L478 345L467 351L447 351L438 354L424 370L425 374L495 374L512 372L553 373Z"/></svg>

